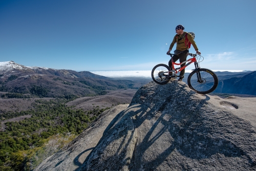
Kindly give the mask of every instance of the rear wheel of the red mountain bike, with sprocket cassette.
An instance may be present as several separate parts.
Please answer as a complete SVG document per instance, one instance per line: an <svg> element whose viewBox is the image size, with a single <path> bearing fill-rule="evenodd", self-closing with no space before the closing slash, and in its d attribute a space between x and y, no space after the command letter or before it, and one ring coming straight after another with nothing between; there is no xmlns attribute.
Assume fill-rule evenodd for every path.
<svg viewBox="0 0 256 171"><path fill-rule="evenodd" d="M166 84L170 80L169 70L165 64L156 65L151 72L152 79L158 84Z"/></svg>

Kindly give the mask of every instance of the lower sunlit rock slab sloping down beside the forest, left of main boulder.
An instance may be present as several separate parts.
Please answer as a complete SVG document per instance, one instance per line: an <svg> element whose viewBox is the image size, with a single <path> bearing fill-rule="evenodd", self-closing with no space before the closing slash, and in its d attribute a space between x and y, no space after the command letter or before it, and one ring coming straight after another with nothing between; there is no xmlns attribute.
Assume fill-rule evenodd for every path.
<svg viewBox="0 0 256 171"><path fill-rule="evenodd" d="M102 113L88 129L82 132L67 146L43 161L34 170L76 170L87 159L105 132L108 132L115 117L129 104L120 104Z"/></svg>

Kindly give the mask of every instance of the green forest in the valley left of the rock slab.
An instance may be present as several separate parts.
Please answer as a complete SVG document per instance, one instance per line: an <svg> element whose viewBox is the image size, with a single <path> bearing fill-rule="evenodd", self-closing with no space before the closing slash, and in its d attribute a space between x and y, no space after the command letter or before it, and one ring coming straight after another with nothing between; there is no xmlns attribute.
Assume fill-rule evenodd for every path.
<svg viewBox="0 0 256 171"><path fill-rule="evenodd" d="M96 106L90 111L74 110L65 105L67 102L67 99L39 99L33 103L33 110L1 115L1 121L24 115L31 117L5 123L5 131L0 132L0 170L33 170L110 109Z"/></svg>

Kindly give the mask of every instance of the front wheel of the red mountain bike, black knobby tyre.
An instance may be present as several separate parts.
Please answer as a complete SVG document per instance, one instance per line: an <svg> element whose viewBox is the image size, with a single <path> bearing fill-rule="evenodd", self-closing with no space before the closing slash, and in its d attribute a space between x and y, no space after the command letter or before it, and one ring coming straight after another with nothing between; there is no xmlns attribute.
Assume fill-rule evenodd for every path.
<svg viewBox="0 0 256 171"><path fill-rule="evenodd" d="M217 88L218 83L217 75L205 68L191 72L187 78L188 87L199 94L213 92Z"/></svg>

